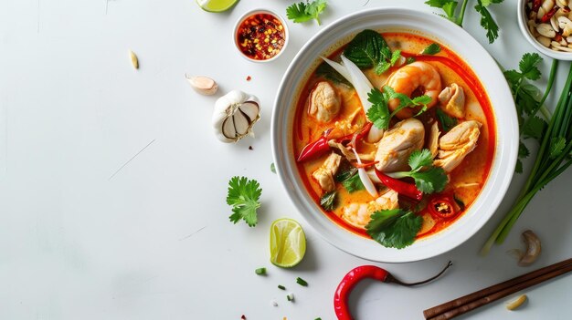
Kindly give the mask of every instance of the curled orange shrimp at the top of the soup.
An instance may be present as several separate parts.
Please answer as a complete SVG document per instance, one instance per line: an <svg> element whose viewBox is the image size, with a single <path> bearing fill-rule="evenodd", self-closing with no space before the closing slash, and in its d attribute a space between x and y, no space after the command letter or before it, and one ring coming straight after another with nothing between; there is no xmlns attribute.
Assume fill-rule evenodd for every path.
<svg viewBox="0 0 572 320"><path fill-rule="evenodd" d="M431 98L431 102L427 104L427 107L431 108L439 101L441 77L435 67L426 62L416 61L405 67L400 67L396 72L392 73L387 79L387 86L408 97L417 92L421 95L427 95ZM399 100L397 98L389 100L388 106L394 111L399 107ZM414 112L416 112L414 108L403 108L397 112L397 118L411 118Z"/></svg>

